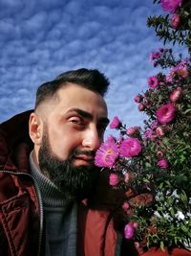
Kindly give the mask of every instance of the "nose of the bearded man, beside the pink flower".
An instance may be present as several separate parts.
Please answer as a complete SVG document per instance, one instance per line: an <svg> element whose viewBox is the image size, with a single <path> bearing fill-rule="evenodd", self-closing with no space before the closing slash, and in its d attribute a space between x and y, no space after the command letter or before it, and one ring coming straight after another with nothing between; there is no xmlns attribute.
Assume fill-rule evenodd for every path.
<svg viewBox="0 0 191 256"><path fill-rule="evenodd" d="M90 151L96 151L102 142L96 128L89 128L84 133L82 146Z"/></svg>

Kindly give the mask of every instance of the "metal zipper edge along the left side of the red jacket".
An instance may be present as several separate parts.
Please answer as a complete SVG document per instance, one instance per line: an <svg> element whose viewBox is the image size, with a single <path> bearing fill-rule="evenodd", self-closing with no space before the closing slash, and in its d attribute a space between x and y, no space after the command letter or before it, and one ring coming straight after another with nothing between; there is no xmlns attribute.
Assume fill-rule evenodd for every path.
<svg viewBox="0 0 191 256"><path fill-rule="evenodd" d="M43 213L43 202L42 202L42 196L40 193L40 189L38 187L37 181L32 175L25 174L25 173L14 173L8 170L0 170L1 173L10 174L10 175L25 175L32 178L34 189L36 191L36 195L38 198L38 212L39 212L39 219L40 219L40 230L39 230L39 236L38 236L38 253L37 256L41 255L41 245L42 245L42 236L43 236L43 222L44 222L44 213Z"/></svg>

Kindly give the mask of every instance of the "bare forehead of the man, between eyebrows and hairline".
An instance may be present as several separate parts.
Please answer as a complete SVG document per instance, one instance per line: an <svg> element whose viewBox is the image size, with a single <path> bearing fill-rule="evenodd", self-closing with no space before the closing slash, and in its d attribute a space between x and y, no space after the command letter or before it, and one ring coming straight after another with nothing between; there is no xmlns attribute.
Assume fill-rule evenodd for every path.
<svg viewBox="0 0 191 256"><path fill-rule="evenodd" d="M56 93L58 101L54 110L65 112L70 108L79 108L98 116L107 116L107 105L101 95L78 84L69 83Z"/></svg>

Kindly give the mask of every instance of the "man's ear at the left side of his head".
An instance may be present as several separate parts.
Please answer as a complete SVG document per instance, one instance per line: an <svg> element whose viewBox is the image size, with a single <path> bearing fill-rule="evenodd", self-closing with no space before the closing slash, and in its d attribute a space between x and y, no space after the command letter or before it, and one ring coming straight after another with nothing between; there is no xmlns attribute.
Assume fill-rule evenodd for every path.
<svg viewBox="0 0 191 256"><path fill-rule="evenodd" d="M32 113L30 116L29 133L33 144L40 146L43 136L43 122L41 118L35 113Z"/></svg>

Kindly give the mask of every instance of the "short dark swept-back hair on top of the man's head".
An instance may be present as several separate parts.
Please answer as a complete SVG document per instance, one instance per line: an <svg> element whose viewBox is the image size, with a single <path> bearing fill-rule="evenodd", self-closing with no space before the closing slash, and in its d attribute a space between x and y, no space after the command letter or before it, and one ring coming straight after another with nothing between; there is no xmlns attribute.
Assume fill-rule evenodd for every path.
<svg viewBox="0 0 191 256"><path fill-rule="evenodd" d="M68 82L76 83L84 88L100 94L102 97L107 92L109 80L96 69L80 68L60 74L53 81L41 84L36 91L35 108L43 101L51 98L55 92Z"/></svg>

